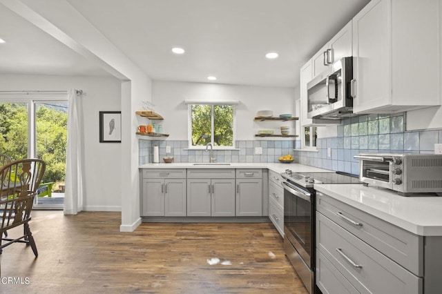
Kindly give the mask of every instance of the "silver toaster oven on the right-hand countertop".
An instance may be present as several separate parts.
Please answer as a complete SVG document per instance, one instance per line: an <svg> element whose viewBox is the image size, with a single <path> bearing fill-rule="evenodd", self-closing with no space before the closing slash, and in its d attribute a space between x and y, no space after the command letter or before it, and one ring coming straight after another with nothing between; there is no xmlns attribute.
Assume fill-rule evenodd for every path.
<svg viewBox="0 0 442 294"><path fill-rule="evenodd" d="M360 154L359 179L365 184L388 188L400 195L442 195L442 155Z"/></svg>

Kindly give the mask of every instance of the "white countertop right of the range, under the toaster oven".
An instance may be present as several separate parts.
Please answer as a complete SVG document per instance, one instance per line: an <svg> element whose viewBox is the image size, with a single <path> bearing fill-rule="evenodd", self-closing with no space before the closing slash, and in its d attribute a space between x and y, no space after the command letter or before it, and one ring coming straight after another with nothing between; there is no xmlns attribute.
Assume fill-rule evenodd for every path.
<svg viewBox="0 0 442 294"><path fill-rule="evenodd" d="M315 189L421 236L442 236L442 197L404 197L361 184L317 184Z"/></svg>

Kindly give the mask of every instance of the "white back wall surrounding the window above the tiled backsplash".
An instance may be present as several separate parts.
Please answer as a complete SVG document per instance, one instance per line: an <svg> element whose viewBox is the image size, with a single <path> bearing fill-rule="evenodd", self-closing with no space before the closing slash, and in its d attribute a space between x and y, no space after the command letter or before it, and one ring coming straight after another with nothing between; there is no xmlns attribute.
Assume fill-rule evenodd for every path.
<svg viewBox="0 0 442 294"><path fill-rule="evenodd" d="M153 81L152 85L152 102L155 104L155 111L164 117L163 133L168 133L169 139L173 140L187 140L188 108L184 104L185 99L240 101L236 106L238 140L255 139L257 131L263 129L273 129L276 133L280 133L279 127L283 125L290 126L292 133L295 129L293 122L256 122L253 118L256 117L258 110L273 110L273 116L283 113L294 114L294 95L293 88L173 81Z"/></svg>

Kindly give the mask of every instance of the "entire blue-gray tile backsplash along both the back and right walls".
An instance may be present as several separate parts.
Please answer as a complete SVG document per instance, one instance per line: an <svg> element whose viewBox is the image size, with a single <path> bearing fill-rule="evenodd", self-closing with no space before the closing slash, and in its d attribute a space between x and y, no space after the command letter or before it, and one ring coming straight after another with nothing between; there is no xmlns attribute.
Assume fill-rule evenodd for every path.
<svg viewBox="0 0 442 294"><path fill-rule="evenodd" d="M240 140L236 141L236 150L213 150L213 156L217 162L260 163L278 162L281 155L291 154L300 164L358 175L359 162L354 155L434 153L436 143L442 143L441 129L405 131L405 113L401 112L343 119L337 137L318 139L317 152L296 150L300 149L300 140ZM174 162L209 162L209 152L189 150L188 141L140 139L140 164L152 162L153 146L160 147L160 162L165 156L173 156ZM171 153L166 154L166 146L171 147ZM262 155L255 154L256 147L262 148Z"/></svg>

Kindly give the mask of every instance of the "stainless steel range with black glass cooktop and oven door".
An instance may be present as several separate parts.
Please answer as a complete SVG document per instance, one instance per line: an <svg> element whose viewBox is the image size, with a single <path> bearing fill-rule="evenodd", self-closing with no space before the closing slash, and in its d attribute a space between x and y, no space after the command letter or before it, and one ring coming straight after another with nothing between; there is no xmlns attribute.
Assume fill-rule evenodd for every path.
<svg viewBox="0 0 442 294"><path fill-rule="evenodd" d="M309 293L320 293L315 283L316 184L360 184L358 177L341 173L292 173L284 179L284 250Z"/></svg>

